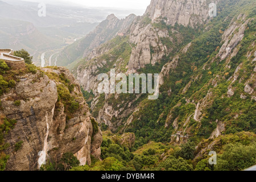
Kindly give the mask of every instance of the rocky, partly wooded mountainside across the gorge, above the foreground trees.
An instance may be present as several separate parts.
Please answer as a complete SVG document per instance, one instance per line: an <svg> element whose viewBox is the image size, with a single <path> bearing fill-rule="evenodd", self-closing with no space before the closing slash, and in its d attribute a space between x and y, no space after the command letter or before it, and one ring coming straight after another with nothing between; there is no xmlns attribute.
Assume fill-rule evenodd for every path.
<svg viewBox="0 0 256 182"><path fill-rule="evenodd" d="M218 1L212 18L208 7L208 1L153 0L124 37L102 44L97 57L80 63L77 80L86 96L94 96L88 102L102 127L135 133L137 147L150 140L195 142L195 165L206 151L224 150L217 149L221 138L255 138L255 2ZM159 73L158 100L98 94L97 76L112 68L115 74Z"/></svg>

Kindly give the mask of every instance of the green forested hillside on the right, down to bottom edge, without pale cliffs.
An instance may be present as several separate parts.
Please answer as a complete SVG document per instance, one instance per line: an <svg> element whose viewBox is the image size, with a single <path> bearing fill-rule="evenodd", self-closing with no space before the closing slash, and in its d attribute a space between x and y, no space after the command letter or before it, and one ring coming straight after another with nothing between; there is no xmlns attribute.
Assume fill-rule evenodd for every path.
<svg viewBox="0 0 256 182"><path fill-rule="evenodd" d="M112 117L109 127L102 122L102 129L117 135L134 133L136 137L130 149L104 140L102 158L117 159L119 163L111 159L119 166L116 169L136 170L242 170L255 164L255 18L256 6L251 0L218 2L217 16L196 28L170 26L164 19L151 23L144 15L141 22L168 31L173 40L160 40L172 49L159 63L148 64L137 72L163 72L179 56L177 65L164 74L158 100L147 100L146 94L96 97L99 102L92 108L94 117L101 118L101 110L110 106L115 111L123 109L118 117ZM117 45L122 45L115 48L118 51L109 51L79 69L87 69L94 61L99 63L111 55L111 60L117 61L98 68L95 74L107 73L111 68L126 72L123 64L126 66L127 62L119 63L118 58L125 59L122 55L129 47ZM228 45L232 51L226 54L230 47L224 48ZM88 102L92 102L90 98ZM133 111L123 117L131 107ZM176 142L171 135L177 131L188 138ZM211 150L218 154L219 163L215 166L208 164ZM165 156L168 157L163 159ZM96 163L94 169L103 165L104 162Z"/></svg>

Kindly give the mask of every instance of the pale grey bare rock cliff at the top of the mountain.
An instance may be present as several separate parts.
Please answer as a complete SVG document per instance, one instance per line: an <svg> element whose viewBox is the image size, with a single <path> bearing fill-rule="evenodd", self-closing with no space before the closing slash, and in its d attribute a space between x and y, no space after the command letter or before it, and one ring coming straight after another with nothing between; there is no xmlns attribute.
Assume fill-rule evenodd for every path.
<svg viewBox="0 0 256 182"><path fill-rule="evenodd" d="M216 2L217 3L217 2ZM152 0L147 7L143 18L131 25L130 43L136 45L130 56L128 72L136 72L146 64L159 63L163 55L172 51L163 45L161 38L174 42L174 38L167 30L159 30L152 24L145 24L144 20L150 18L151 23L164 21L167 25L175 23L183 26L196 27L209 19L209 4L206 0ZM178 34L172 30L172 33ZM179 36L177 36L178 40Z"/></svg>

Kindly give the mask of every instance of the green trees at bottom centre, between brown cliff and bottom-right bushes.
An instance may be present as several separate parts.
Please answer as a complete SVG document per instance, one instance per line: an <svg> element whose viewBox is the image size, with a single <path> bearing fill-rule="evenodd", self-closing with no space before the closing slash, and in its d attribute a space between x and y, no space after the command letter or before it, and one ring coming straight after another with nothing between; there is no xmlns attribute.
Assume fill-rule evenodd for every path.
<svg viewBox="0 0 256 182"><path fill-rule="evenodd" d="M191 160L183 159L181 156L185 154L185 157L188 155L188 158L191 158L189 154L193 154L195 146L192 142L184 144L181 148L171 144L149 142L139 147L138 150L135 148L129 149L122 146L118 141L114 142L113 138L109 138L105 133L101 151L102 159L115 158L116 161L118 160L123 166L119 169L121 171L143 171L148 169L192 171ZM95 168L90 168L90 170L93 169Z"/></svg>

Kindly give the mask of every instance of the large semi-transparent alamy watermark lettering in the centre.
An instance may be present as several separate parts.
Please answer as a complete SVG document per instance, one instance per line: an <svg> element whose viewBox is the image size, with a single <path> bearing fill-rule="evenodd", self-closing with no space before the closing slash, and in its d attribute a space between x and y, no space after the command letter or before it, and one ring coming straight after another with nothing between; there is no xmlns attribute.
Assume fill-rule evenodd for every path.
<svg viewBox="0 0 256 182"><path fill-rule="evenodd" d="M148 100L156 100L159 97L159 74L154 74L154 79L152 74L138 73L129 74L127 76L124 73L118 73L115 76L115 69L110 71L110 80L109 76L106 73L98 75L98 81L101 81L98 84L98 93L114 94L114 93L130 93L130 94L139 94L139 93L148 93L152 94L148 96ZM154 87L152 85L154 80ZM115 81L119 81L115 84ZM128 81L128 84L127 84Z"/></svg>

